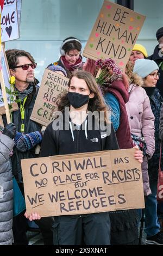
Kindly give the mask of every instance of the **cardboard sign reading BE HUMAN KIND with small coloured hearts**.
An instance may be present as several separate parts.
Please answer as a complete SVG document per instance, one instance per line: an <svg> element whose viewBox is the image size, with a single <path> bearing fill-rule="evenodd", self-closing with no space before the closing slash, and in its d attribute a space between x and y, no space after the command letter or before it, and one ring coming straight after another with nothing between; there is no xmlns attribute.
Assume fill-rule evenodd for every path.
<svg viewBox="0 0 163 256"><path fill-rule="evenodd" d="M104 1L83 56L112 58L124 70L145 19L122 5Z"/></svg>

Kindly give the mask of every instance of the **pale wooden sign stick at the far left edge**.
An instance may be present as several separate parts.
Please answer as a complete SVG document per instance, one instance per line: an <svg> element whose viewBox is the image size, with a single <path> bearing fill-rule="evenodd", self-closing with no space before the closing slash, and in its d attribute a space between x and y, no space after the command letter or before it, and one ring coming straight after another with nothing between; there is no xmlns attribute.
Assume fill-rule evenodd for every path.
<svg viewBox="0 0 163 256"><path fill-rule="evenodd" d="M0 63L0 65L1 65L1 63ZM5 84L4 84L2 68L0 70L0 82L1 82L3 100L4 100L5 114L6 114L6 117L7 117L7 123L9 124L9 123L11 123L11 118L10 118L10 111L9 111L9 105L8 105L8 98L7 98L7 94L5 92Z"/></svg>

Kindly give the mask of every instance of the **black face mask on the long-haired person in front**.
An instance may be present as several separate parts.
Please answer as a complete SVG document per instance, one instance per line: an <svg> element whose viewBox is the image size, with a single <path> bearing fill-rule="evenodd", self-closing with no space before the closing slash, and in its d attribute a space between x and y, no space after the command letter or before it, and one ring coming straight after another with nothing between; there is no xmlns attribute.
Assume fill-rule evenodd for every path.
<svg viewBox="0 0 163 256"><path fill-rule="evenodd" d="M71 106L74 108L82 107L89 101L89 95L68 92L67 96Z"/></svg>

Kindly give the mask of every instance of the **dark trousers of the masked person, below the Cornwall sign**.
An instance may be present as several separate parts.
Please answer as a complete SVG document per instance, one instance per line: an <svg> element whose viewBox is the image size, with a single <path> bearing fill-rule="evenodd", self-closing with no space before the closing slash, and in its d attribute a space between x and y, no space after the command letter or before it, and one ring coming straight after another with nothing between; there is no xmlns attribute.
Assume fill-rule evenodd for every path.
<svg viewBox="0 0 163 256"><path fill-rule="evenodd" d="M110 245L108 212L55 217L54 245Z"/></svg>

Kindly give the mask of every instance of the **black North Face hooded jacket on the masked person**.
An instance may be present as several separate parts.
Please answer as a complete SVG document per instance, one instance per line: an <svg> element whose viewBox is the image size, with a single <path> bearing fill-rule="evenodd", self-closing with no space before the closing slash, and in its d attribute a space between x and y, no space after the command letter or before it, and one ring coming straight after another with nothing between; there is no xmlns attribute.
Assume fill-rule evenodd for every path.
<svg viewBox="0 0 163 256"><path fill-rule="evenodd" d="M86 120L83 127L85 127ZM71 130L70 123L68 123L68 130L56 131L53 126L54 122L55 120L45 130L40 157L118 149L112 124L109 124L111 127L110 136L105 137L102 136L102 131L94 129L95 123L93 123L92 130L82 130L82 126L80 126L80 130Z"/></svg>

